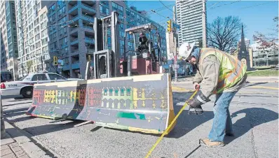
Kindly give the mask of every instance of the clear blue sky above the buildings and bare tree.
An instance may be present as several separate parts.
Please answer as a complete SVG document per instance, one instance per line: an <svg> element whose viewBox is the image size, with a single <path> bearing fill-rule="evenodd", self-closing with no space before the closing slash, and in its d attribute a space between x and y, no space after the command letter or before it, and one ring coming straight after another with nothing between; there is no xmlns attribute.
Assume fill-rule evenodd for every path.
<svg viewBox="0 0 279 158"><path fill-rule="evenodd" d="M175 1L162 0L162 2L169 8L175 5ZM138 10L149 11L152 20L165 26L168 20L165 17L172 18L173 14L160 1L128 1L128 5L136 6ZM264 34L271 33L271 29L275 26L273 17L278 16L278 1L207 1L207 8L209 8L207 9L207 22L212 22L218 16L240 17L246 26L245 38L250 39L251 44L254 43L252 36L255 31ZM151 9L158 10L160 15L152 13Z"/></svg>

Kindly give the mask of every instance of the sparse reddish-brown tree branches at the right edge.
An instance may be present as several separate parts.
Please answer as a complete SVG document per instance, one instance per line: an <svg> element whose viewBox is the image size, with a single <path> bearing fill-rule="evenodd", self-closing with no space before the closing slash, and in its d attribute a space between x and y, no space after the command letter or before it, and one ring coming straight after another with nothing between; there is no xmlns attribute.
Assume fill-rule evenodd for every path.
<svg viewBox="0 0 279 158"><path fill-rule="evenodd" d="M261 34L256 32L253 35L254 41L259 43L259 50L264 50L266 48L273 48L278 50L278 17L274 17L273 21L275 22L275 28L271 29L273 32L271 34Z"/></svg>

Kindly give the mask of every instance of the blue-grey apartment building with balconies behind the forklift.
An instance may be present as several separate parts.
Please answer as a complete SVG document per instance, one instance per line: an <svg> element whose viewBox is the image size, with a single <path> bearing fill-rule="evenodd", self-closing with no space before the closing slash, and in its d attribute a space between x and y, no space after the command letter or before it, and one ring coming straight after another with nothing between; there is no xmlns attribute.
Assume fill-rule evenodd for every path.
<svg viewBox="0 0 279 158"><path fill-rule="evenodd" d="M77 78L79 73L85 74L86 54L95 51L94 17L106 17L111 15L113 10L119 13L118 20L121 21L118 28L121 56L123 56L125 45L126 50L134 48L131 36L124 45L125 29L149 22L158 26L162 52L163 55L166 54L165 29L137 13L136 10L128 8L127 1L48 1L47 8L50 59L57 56L63 61L63 66L55 70L63 76ZM111 48L110 32L108 34L108 48ZM155 36L156 32L151 34L154 35L151 40L156 43L158 41L158 37Z"/></svg>

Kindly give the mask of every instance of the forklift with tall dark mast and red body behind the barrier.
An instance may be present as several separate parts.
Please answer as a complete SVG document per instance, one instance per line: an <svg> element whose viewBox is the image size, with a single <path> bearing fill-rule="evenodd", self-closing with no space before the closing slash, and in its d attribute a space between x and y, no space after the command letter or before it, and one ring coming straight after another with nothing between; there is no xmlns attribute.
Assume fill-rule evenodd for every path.
<svg viewBox="0 0 279 158"><path fill-rule="evenodd" d="M120 59L120 43L118 41L118 13L113 11L108 17L99 19L95 17L95 52L88 52L93 56L94 62L94 78L113 78L131 75L143 75L159 73L161 65L161 43L158 36L156 48L151 42L151 30L157 29L154 24L143 24L137 27L125 29L125 39L127 33L133 36L135 50L125 50L124 55ZM148 37L146 36L146 32ZM109 45L109 34L111 37L111 45ZM135 34L140 34L138 42L140 45L136 47ZM111 48L109 48L111 46ZM157 57L156 57L157 52ZM88 62L86 68L86 79L88 79L90 64Z"/></svg>

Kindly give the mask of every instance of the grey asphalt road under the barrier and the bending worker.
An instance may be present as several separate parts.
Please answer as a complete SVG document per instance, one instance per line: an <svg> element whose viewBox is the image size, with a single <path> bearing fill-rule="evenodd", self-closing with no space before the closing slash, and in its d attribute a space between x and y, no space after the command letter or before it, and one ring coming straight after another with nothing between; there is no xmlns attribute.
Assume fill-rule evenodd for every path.
<svg viewBox="0 0 279 158"><path fill-rule="evenodd" d="M175 113L191 96L190 83L173 92ZM144 157L159 136L95 127L81 122L56 122L25 115L31 99L2 98L5 117L27 131L57 157ZM175 129L157 146L151 157L278 157L278 83L249 83L233 98L229 110L235 137L226 137L224 148L198 145L212 125L212 101L203 105L204 115L179 116Z"/></svg>

